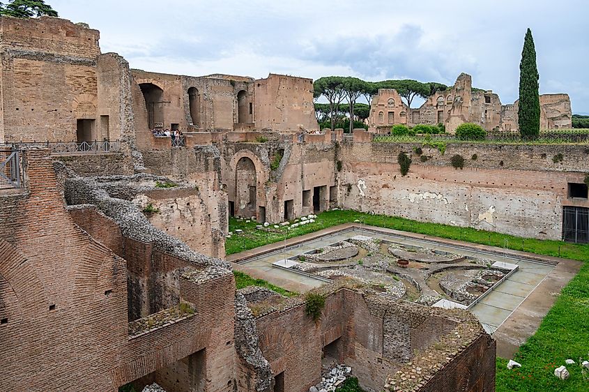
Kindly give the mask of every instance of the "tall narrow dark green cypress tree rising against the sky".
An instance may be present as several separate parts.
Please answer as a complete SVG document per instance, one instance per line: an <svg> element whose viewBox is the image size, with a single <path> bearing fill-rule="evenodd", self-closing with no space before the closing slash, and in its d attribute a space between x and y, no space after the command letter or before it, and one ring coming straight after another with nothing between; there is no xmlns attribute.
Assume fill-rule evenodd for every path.
<svg viewBox="0 0 589 392"><path fill-rule="evenodd" d="M540 134L540 75L536 65L536 50L532 31L528 29L523 40L521 63L519 63L519 133L521 136L537 137Z"/></svg>

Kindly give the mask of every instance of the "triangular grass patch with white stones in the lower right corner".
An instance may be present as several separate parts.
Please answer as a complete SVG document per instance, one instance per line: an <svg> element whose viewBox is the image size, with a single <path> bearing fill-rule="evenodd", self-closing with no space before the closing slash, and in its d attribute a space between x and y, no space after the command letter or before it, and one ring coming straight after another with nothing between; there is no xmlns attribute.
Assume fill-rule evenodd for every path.
<svg viewBox="0 0 589 392"><path fill-rule="evenodd" d="M535 335L519 347L514 361L521 368L508 370L507 359L497 359L497 391L589 391L589 375L581 374L579 357L589 358L589 264L563 289ZM566 365L572 359L576 365ZM563 381L554 369L567 366Z"/></svg>

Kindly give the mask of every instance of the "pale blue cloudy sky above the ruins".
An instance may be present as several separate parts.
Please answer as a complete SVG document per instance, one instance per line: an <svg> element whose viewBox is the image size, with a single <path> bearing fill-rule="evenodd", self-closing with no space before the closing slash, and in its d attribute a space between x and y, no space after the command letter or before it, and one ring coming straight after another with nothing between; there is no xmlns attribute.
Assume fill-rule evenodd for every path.
<svg viewBox="0 0 589 392"><path fill-rule="evenodd" d="M47 0L100 30L102 52L183 75L353 75L453 84L461 72L517 99L526 28L540 93L589 114L587 0Z"/></svg>

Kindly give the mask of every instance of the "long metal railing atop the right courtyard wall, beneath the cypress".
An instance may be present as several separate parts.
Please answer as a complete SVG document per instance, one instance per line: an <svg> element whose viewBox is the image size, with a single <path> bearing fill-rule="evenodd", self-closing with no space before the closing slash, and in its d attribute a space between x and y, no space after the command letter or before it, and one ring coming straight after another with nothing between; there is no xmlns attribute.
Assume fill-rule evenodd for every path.
<svg viewBox="0 0 589 392"><path fill-rule="evenodd" d="M490 131L484 139L464 140L449 133L388 135L374 134L376 143L488 143L488 144L589 144L589 130L541 130L538 136L522 136L517 131Z"/></svg>

